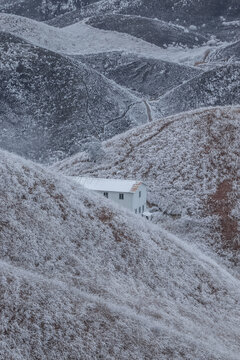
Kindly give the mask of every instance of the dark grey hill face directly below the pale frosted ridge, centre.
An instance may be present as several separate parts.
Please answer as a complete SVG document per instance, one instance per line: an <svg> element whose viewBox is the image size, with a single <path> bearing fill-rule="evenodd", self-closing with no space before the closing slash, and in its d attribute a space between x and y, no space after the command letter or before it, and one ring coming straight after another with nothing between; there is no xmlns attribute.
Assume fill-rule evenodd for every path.
<svg viewBox="0 0 240 360"><path fill-rule="evenodd" d="M197 68L119 51L74 58L116 83L151 99L158 98L201 73Z"/></svg>

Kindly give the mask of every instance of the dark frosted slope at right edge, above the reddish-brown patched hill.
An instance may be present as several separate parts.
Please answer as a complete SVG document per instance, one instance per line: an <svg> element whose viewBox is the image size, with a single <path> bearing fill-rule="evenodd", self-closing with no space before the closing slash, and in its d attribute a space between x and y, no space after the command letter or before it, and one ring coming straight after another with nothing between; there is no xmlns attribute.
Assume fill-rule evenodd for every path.
<svg viewBox="0 0 240 360"><path fill-rule="evenodd" d="M238 105L240 64L226 64L178 86L152 103L161 116L205 106Z"/></svg>

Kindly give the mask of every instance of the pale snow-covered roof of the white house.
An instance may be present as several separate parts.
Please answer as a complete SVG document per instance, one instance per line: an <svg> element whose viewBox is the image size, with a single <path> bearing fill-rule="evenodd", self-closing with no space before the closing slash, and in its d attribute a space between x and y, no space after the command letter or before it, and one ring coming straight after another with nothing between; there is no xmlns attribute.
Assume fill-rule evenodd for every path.
<svg viewBox="0 0 240 360"><path fill-rule="evenodd" d="M90 177L76 177L76 182L89 190L95 191L109 191L122 193L135 193L139 186L144 184L137 180L122 180L122 179L103 179Z"/></svg>

